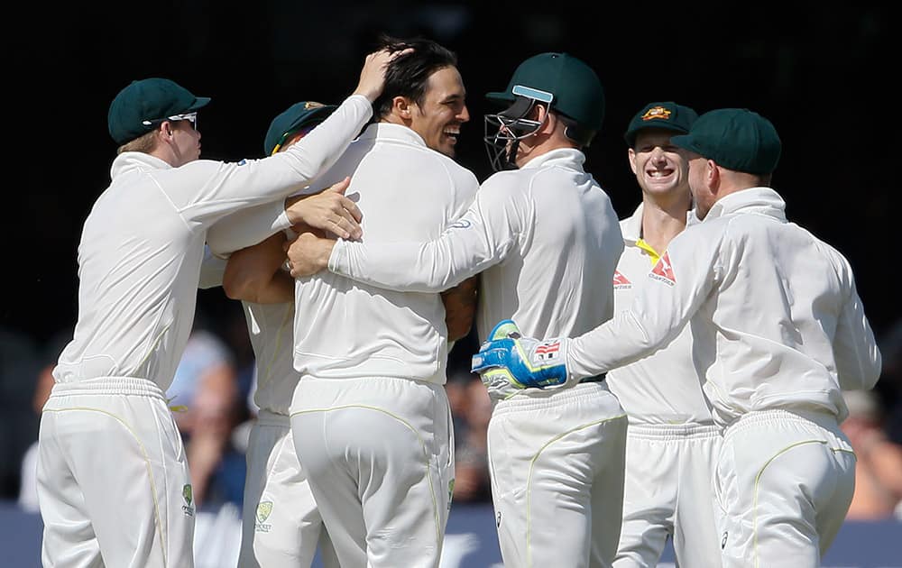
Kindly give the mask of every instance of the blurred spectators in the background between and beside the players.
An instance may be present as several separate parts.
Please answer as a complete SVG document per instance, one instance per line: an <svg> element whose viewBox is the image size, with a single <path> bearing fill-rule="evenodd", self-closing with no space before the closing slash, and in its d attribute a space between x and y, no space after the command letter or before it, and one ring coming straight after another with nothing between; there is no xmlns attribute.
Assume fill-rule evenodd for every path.
<svg viewBox="0 0 902 568"><path fill-rule="evenodd" d="M211 315L216 315L212 317ZM57 356L71 330L44 344L0 328L0 499L36 512L35 449L41 408L53 385ZM902 320L879 337L883 373L873 391L846 392L849 417L842 429L858 458L855 496L848 518L902 519ZM469 371L475 334L449 356L448 399L455 426L455 502L491 499L486 428L491 404ZM167 397L188 453L200 508L240 506L244 452L256 416L253 350L240 307L198 305L195 325Z"/></svg>

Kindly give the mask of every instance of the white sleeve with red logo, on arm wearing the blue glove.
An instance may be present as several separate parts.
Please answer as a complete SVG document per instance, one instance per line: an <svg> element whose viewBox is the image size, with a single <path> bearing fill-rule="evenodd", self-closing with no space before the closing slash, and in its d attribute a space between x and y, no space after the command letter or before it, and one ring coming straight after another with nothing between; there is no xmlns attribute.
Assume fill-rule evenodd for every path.
<svg viewBox="0 0 902 568"><path fill-rule="evenodd" d="M719 244L696 233L702 232L686 228L670 242L649 271L652 281L641 287L629 309L569 342L571 378L593 377L638 361L680 333L720 278Z"/></svg>

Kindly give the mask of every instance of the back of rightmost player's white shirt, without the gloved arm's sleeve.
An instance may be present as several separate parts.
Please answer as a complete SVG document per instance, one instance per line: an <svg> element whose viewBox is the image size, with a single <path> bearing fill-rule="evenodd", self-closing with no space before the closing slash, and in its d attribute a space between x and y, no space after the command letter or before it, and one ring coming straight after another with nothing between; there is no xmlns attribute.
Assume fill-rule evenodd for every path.
<svg viewBox="0 0 902 568"><path fill-rule="evenodd" d="M722 259L716 289L691 322L716 413L729 421L737 411L807 408L842 419L843 377L872 386L879 375L848 262L787 222L772 190L746 189L723 201L723 216L687 230L693 239L680 247L693 254L693 243L718 243Z"/></svg>

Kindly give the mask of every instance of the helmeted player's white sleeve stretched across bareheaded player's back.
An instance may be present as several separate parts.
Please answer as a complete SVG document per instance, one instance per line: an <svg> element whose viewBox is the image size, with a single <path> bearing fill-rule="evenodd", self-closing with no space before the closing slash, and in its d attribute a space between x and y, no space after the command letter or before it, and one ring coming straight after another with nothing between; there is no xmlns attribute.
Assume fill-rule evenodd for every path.
<svg viewBox="0 0 902 568"><path fill-rule="evenodd" d="M483 188L473 205L428 243L336 242L329 270L371 286L440 292L504 260L533 211L521 192ZM399 270L399 267L403 267Z"/></svg>

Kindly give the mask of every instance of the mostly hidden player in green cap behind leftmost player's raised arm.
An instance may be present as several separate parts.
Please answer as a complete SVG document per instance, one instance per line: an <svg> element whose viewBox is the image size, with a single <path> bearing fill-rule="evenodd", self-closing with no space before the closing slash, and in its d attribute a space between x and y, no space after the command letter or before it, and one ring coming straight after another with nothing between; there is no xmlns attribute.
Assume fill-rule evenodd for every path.
<svg viewBox="0 0 902 568"><path fill-rule="evenodd" d="M287 151L335 109L315 101L290 105L272 119L263 155ZM291 437L289 405L300 377L292 357L294 279L282 270L282 244L293 233L286 230L260 243L248 242L242 221L254 209L242 209L210 227L211 254L201 268L201 288L222 286L229 298L242 300L256 365L253 401L259 411L248 441L238 565L309 568L319 546L326 568L337 568ZM210 277L206 281L205 275Z"/></svg>

